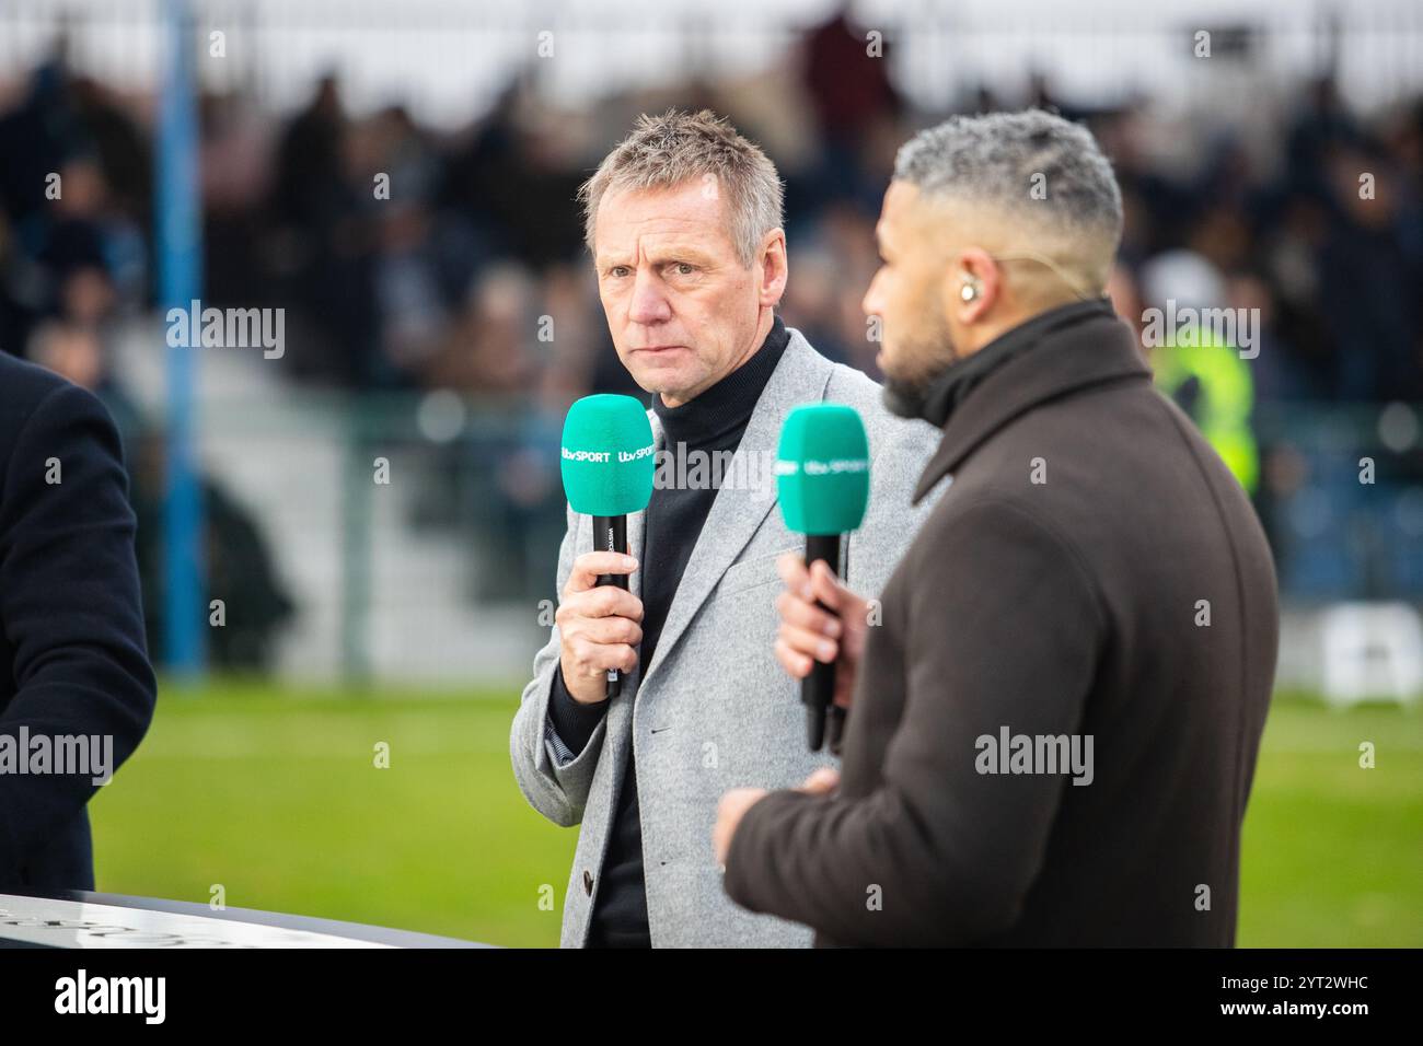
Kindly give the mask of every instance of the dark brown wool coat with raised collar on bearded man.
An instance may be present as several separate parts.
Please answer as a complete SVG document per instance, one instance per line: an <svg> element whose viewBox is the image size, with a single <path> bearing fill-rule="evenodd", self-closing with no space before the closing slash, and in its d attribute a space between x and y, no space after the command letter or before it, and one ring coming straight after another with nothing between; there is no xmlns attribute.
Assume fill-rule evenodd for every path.
<svg viewBox="0 0 1423 1046"><path fill-rule="evenodd" d="M953 481L884 591L838 793L733 840L730 897L820 945L1234 944L1269 548L1120 320L1037 329L921 478ZM1005 729L1090 734L1090 784L979 773Z"/></svg>

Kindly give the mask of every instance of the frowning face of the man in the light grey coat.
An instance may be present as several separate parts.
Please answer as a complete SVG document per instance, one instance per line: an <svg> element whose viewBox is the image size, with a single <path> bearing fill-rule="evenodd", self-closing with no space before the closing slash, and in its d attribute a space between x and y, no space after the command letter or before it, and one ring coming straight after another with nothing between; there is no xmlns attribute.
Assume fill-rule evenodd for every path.
<svg viewBox="0 0 1423 1046"><path fill-rule="evenodd" d="M707 185L716 188L692 181L608 192L593 226L598 292L618 357L669 407L710 389L760 349L766 266L741 265L721 194Z"/></svg>

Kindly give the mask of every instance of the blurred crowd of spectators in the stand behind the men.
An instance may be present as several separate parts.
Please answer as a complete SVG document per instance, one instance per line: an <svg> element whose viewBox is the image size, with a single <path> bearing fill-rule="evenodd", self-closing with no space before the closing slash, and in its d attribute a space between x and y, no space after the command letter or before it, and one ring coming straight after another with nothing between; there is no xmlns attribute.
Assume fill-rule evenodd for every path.
<svg viewBox="0 0 1423 1046"><path fill-rule="evenodd" d="M562 501L555 457L544 448L566 406L589 391L638 391L599 307L579 184L640 111L726 114L767 148L787 185L791 276L781 315L824 354L875 376L859 300L877 265L881 196L896 147L949 115L912 110L887 74L892 58L892 41L885 60L867 57L862 33L834 19L785 56L790 100L686 83L568 112L541 100L529 73L458 132L421 127L400 105L353 115L334 75L299 112L206 94L203 305L285 307L280 366L293 384L524 401L527 416L542 421L509 434L507 460L542 464L499 478L514 515L502 514L481 539L497 542L511 518L544 521L556 539ZM1170 152L1155 148L1151 98L1101 111L1025 71L1019 94L980 90L953 111L1044 105L1087 122L1124 194L1111 287L1118 312L1140 326L1143 310L1168 296L1259 310L1259 354L1245 364L1244 423L1258 453L1258 482L1248 485L1276 552L1296 556L1282 564L1286 589L1301 598L1417 599L1423 562L1407 551L1410 538L1414 549L1423 545L1416 421L1410 437L1407 420L1395 414L1385 438L1393 453L1380 482L1396 490L1396 504L1380 525L1396 528L1383 539L1393 558L1358 566L1355 558L1329 558L1329 528L1289 515L1305 511L1291 495L1335 482L1329 468L1338 497L1358 497L1358 454L1311 457L1261 418L1289 404L1349 404L1370 417L1390 403L1423 404L1423 100L1356 112L1329 75L1294 85L1292 98L1276 141L1202 131L1190 142L1188 167L1174 159L1180 142ZM788 104L800 107L794 134L785 132ZM141 515L155 519L161 450L145 440L149 420L108 359L112 324L157 307L148 117L135 100L73 74L63 48L10 100L0 115L0 349L105 398L129 437ZM46 192L51 172L63 179L57 199ZM1372 175L1368 194L1360 172ZM388 175L388 199L376 191L379 175ZM1201 394L1171 391L1188 407ZM212 487L209 497L221 519L221 491ZM280 620L290 605L277 578L262 579L270 569L260 528L238 505L226 505L226 515L216 568L226 555L226 569L258 578L262 620ZM145 529L157 535L157 522ZM152 542L145 555L154 558ZM149 599L154 613L157 602ZM258 653L240 650L236 660L260 657L262 628L250 640Z"/></svg>

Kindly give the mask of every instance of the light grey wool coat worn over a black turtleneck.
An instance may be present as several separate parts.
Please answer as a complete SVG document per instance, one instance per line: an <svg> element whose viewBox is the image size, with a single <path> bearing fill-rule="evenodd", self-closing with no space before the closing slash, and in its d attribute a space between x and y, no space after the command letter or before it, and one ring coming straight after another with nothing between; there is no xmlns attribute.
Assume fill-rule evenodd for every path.
<svg viewBox="0 0 1423 1046"><path fill-rule="evenodd" d="M781 591L776 559L804 551L776 504L774 461L785 414L803 403L844 403L865 421L871 495L864 524L842 545L851 588L878 596L935 498L911 507L915 481L938 441L924 421L891 416L879 386L831 363L800 332L787 346L741 437L667 611L650 665L623 683L586 747L555 766L545 744L549 687L559 663L558 626L534 657L514 717L509 751L528 801L559 825L579 825L564 898L562 945L582 946L598 897L603 852L628 760L636 760L647 922L653 946L808 946L811 931L737 908L712 852L717 800L729 788L800 784L831 761L805 746L800 683L774 655ZM652 414L659 448L663 434ZM642 555L642 514L628 518L629 551ZM592 549L592 519L569 511L559 552L562 592L573 559ZM630 591L640 595L640 571Z"/></svg>

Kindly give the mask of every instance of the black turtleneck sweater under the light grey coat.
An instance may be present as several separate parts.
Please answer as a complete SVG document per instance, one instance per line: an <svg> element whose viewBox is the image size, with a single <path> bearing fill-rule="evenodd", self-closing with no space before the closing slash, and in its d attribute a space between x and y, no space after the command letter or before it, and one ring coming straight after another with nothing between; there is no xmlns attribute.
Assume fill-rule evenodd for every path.
<svg viewBox="0 0 1423 1046"><path fill-rule="evenodd" d="M673 455L702 451L709 460L714 460L712 455L716 453L734 454L761 390L770 381L788 343L790 334L777 317L760 350L694 400L680 407L667 407L662 403L662 397L655 394L652 408L662 421L663 450ZM652 501L643 517L643 551L639 556L642 646L638 650L639 663L643 666L652 663L677 582L686 572L692 549L717 495L716 488L710 485L680 490L662 482L662 475L676 477L676 468L669 468L666 472L659 470L659 482L652 491ZM707 475L710 477L710 470ZM562 675L554 673L549 719L558 739L569 751L582 751L606 710L608 702L598 704L575 702L564 686ZM603 858L588 944L593 948L650 945L635 757L628 760L628 774L618 793L618 810L608 838L608 854Z"/></svg>

